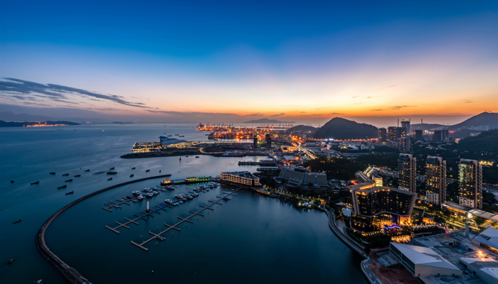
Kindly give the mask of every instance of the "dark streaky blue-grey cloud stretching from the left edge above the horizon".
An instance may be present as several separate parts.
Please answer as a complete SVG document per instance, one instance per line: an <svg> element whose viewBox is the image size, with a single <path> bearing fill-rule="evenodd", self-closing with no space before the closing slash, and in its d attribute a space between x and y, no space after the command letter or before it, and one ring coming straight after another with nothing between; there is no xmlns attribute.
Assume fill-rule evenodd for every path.
<svg viewBox="0 0 498 284"><path fill-rule="evenodd" d="M78 104L76 102L68 102L69 96L79 96L88 97L89 99L97 98L108 102L115 102L117 104L124 104L130 107L145 107L142 103L127 102L124 97L117 96L115 94L100 94L97 92L90 92L85 89L78 89L73 87L66 87L60 84L39 84L36 82L30 82L26 80L20 80L16 78L4 78L7 81L0 81L0 91L4 91L8 94L12 94L10 97L19 99L20 95L33 95L36 97L45 97L51 99L54 102L64 102L67 104ZM93 99L95 100L95 99Z"/></svg>

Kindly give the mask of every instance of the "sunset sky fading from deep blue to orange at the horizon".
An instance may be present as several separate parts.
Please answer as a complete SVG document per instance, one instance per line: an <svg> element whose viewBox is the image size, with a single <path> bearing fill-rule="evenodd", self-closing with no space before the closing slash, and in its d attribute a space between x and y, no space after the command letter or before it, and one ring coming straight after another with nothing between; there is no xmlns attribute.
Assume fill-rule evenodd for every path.
<svg viewBox="0 0 498 284"><path fill-rule="evenodd" d="M0 0L0 27L0 111L393 125L498 111L497 1Z"/></svg>

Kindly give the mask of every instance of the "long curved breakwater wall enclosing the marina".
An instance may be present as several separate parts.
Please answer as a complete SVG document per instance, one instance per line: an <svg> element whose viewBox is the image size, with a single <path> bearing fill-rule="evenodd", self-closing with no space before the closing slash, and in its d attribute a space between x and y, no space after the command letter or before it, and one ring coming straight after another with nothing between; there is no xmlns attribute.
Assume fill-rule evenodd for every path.
<svg viewBox="0 0 498 284"><path fill-rule="evenodd" d="M61 275L65 278L65 280L68 280L69 283L78 283L78 284L91 284L90 281L88 281L86 278L83 277L78 271L75 270L75 268L72 268L68 266L66 263L64 263L58 256L55 255L50 249L48 249L48 246L45 241L45 232L50 226L50 224L53 222L53 220L58 217L61 213L63 213L66 209L72 207L75 204L78 204L79 202L82 202L83 200L86 200L94 195L97 195L101 192L105 192L107 190L112 190L116 187L121 187L123 185L129 185L134 182L142 182L144 180L152 180L154 178L166 178L171 175L156 175L154 177L148 177L148 178L141 178L139 180L130 180L128 182L122 182L118 185L112 185L110 187L106 187L102 190L97 190L95 192L90 193L89 195L85 195L84 197L79 198L78 200L75 200L71 202L70 204L65 205L65 207L61 208L58 210L58 212L55 212L48 220L43 223L41 228L38 230L38 233L36 234L35 238L35 245L36 249L38 250L38 253L41 254L43 258L46 259L51 265L59 271Z"/></svg>

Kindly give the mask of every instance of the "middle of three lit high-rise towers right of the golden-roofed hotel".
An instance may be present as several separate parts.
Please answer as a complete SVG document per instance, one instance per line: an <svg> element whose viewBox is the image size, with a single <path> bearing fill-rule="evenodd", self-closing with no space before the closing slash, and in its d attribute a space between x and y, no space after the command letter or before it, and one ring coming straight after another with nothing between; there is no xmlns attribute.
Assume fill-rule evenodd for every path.
<svg viewBox="0 0 498 284"><path fill-rule="evenodd" d="M430 204L446 202L446 161L441 157L428 156L425 162L425 189Z"/></svg>

